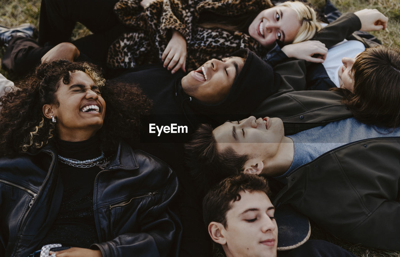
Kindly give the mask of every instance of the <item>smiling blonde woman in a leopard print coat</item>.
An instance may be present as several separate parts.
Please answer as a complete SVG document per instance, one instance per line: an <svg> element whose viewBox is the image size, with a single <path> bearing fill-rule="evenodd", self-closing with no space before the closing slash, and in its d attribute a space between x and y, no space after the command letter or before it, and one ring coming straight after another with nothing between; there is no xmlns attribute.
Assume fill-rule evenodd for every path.
<svg viewBox="0 0 400 257"><path fill-rule="evenodd" d="M306 41L321 29L316 12L298 1L277 6L269 0L150 0L140 4L121 0L114 8L122 23L142 30L124 33L114 41L108 52L112 67L162 61L172 73L180 68L190 71L240 48L265 56L276 42L283 46Z"/></svg>

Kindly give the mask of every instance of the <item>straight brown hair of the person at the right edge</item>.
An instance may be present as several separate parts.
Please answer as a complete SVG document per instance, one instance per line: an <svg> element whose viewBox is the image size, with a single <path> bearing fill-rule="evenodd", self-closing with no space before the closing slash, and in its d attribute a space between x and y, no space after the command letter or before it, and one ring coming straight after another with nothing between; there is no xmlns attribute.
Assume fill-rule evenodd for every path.
<svg viewBox="0 0 400 257"><path fill-rule="evenodd" d="M342 102L362 123L397 128L400 126L400 51L383 45L367 48L358 55L351 70L353 92Z"/></svg>

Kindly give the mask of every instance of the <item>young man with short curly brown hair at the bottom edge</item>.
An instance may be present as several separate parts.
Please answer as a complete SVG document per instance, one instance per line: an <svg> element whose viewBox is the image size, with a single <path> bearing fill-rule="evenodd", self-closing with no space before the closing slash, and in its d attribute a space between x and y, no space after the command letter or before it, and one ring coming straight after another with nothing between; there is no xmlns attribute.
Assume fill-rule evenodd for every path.
<svg viewBox="0 0 400 257"><path fill-rule="evenodd" d="M224 179L204 197L204 223L226 257L354 257L326 241L306 241L308 220L292 209L275 209L269 194L264 178L242 173ZM304 222L305 230L296 228ZM289 241L296 243L287 246Z"/></svg>

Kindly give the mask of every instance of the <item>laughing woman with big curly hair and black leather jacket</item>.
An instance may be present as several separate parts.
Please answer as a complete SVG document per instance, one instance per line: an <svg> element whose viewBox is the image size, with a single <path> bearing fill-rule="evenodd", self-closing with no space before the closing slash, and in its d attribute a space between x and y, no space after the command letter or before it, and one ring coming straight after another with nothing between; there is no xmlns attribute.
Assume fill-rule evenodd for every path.
<svg viewBox="0 0 400 257"><path fill-rule="evenodd" d="M151 103L103 84L56 61L0 98L0 256L176 255L176 176L128 144Z"/></svg>

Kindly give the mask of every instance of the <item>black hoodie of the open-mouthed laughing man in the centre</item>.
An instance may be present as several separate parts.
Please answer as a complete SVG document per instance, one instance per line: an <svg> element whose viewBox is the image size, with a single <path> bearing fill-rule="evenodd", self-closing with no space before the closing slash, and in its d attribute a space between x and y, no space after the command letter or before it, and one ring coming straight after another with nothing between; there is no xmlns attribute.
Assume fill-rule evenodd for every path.
<svg viewBox="0 0 400 257"><path fill-rule="evenodd" d="M210 249L209 236L204 233L202 225L201 198L194 191L194 182L183 164L183 143L200 123L217 126L226 119L248 117L265 98L278 91L280 84L280 76L254 53L240 50L234 55L246 57L246 61L228 96L218 104L205 104L188 96L181 85L184 73L178 71L172 75L162 65L138 67L114 79L114 82L137 84L153 100L152 114L142 120L142 144L139 148L162 159L176 171L184 192L179 200L184 228L182 251L196 251L205 256L210 255L207 252ZM188 133L162 133L158 136L157 130L149 133L150 124L187 126Z"/></svg>

